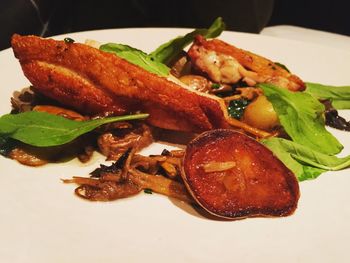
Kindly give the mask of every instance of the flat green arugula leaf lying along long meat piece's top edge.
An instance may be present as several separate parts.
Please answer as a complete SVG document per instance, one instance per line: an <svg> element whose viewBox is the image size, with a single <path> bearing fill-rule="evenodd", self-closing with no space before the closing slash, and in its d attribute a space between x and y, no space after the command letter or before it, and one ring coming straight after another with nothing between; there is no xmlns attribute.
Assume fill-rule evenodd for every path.
<svg viewBox="0 0 350 263"><path fill-rule="evenodd" d="M118 57L121 57L130 63L137 65L151 73L159 76L168 76L170 69L161 62L155 61L151 56L145 52L130 47L128 45L107 43L100 46L100 50L113 53Z"/></svg>

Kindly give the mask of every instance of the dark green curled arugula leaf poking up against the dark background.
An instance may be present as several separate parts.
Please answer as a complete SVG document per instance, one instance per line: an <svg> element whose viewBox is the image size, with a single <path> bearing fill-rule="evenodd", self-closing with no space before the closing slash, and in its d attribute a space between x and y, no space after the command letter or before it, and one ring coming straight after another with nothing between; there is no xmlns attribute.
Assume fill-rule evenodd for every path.
<svg viewBox="0 0 350 263"><path fill-rule="evenodd" d="M176 58L186 46L193 42L196 35L202 35L205 38L215 38L224 30L225 23L221 17L218 17L208 29L196 29L185 36L174 38L159 46L156 50L150 53L150 56L156 61L168 64L173 61L173 59Z"/></svg>

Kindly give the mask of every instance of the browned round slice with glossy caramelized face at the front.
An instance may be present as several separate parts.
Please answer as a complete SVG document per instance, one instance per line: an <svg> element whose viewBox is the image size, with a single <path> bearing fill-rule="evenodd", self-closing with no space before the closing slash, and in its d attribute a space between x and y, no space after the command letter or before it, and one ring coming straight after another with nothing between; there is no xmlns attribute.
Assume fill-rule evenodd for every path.
<svg viewBox="0 0 350 263"><path fill-rule="evenodd" d="M198 204L222 218L287 216L299 199L294 174L265 146L233 130L191 141L182 177Z"/></svg>

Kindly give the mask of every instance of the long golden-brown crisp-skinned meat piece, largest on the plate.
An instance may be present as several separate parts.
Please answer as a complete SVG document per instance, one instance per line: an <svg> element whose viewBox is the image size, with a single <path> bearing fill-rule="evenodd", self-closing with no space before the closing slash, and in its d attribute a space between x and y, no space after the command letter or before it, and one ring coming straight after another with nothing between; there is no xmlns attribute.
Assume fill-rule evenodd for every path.
<svg viewBox="0 0 350 263"><path fill-rule="evenodd" d="M12 37L35 88L82 113L141 110L154 126L199 132L227 128L220 99L201 96L98 49L36 36Z"/></svg>

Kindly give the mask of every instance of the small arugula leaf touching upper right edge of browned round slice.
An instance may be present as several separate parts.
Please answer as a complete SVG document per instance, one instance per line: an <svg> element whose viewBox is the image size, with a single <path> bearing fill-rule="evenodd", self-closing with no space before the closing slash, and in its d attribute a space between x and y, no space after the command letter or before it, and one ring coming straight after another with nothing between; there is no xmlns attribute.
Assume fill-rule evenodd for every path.
<svg viewBox="0 0 350 263"><path fill-rule="evenodd" d="M289 145L284 143L285 139L282 138L269 138L264 139L261 142L268 147L277 157L291 170L299 181L316 179L322 173L326 172L325 169L309 166L303 164L294 159L294 155L289 152ZM293 142L288 141L293 144ZM293 147L291 147L293 149ZM292 157L293 156L293 157Z"/></svg>

